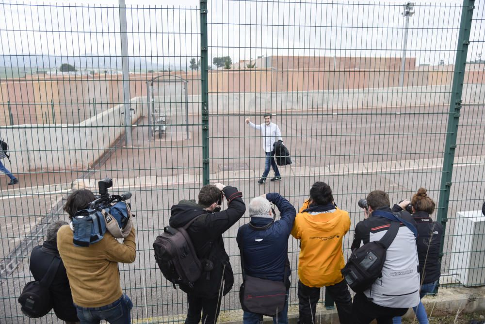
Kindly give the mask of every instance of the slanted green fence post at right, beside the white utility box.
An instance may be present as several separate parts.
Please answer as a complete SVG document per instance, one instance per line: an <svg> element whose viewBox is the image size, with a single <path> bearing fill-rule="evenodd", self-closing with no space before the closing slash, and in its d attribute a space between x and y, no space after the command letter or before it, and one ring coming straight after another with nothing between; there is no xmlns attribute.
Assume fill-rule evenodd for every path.
<svg viewBox="0 0 485 324"><path fill-rule="evenodd" d="M453 160L456 149L456 138L458 132L458 122L460 119L460 109L463 93L463 81L465 78L465 65L470 38L471 22L473 17L474 0L464 0L460 20L460 33L458 35L458 46L456 48L456 60L453 71L453 85L451 91L450 111L448 115L448 129L446 130L446 142L444 148L443 169L441 175L441 185L439 193L438 212L436 221L441 222L443 231L446 229L448 221L448 203L450 200L450 189L453 176ZM444 235L441 238L439 259L443 257ZM437 292L437 288L435 293Z"/></svg>

